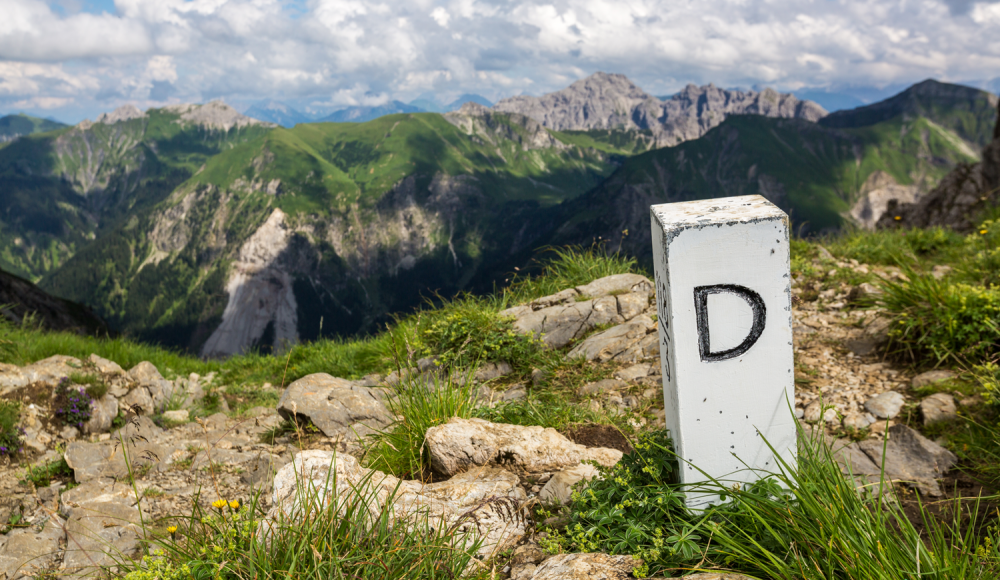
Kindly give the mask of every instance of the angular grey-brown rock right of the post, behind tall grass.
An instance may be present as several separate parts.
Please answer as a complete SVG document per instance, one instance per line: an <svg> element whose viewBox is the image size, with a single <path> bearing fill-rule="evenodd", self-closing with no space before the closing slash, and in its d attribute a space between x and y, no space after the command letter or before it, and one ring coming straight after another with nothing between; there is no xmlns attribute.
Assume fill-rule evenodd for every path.
<svg viewBox="0 0 1000 580"><path fill-rule="evenodd" d="M869 439L858 447L876 466L885 469L887 480L916 487L924 495L941 495L936 480L958 461L955 454L906 425L893 425L887 435L888 441L884 444Z"/></svg>

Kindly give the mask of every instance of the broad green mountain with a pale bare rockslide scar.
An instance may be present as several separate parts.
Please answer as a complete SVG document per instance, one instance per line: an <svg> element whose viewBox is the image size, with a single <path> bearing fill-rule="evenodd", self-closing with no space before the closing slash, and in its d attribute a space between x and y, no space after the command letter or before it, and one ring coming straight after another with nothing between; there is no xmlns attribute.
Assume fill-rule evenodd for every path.
<svg viewBox="0 0 1000 580"><path fill-rule="evenodd" d="M133 334L201 351L376 330L524 248L524 224L627 154L470 106L275 129L43 281Z"/></svg>

